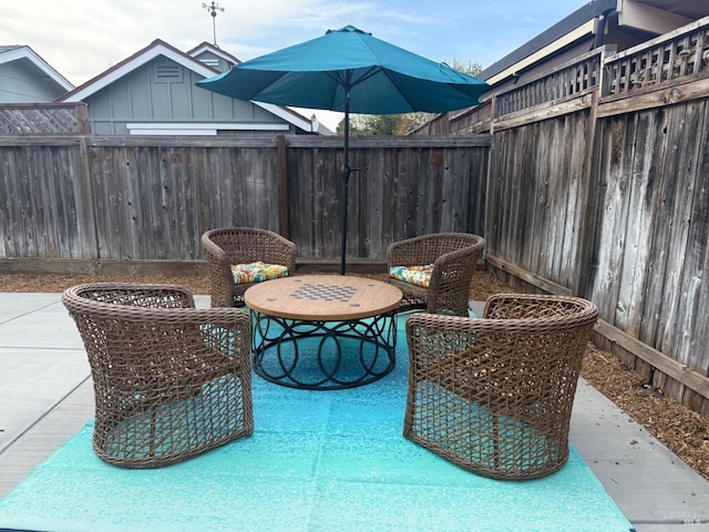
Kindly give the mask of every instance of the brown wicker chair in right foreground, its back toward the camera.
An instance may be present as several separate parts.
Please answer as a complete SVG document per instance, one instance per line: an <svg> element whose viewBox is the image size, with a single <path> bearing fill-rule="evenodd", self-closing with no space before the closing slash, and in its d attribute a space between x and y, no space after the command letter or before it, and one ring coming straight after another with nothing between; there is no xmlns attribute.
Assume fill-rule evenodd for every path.
<svg viewBox="0 0 709 532"><path fill-rule="evenodd" d="M493 479L557 471L597 316L580 298L504 294L484 319L412 315L404 437Z"/></svg>

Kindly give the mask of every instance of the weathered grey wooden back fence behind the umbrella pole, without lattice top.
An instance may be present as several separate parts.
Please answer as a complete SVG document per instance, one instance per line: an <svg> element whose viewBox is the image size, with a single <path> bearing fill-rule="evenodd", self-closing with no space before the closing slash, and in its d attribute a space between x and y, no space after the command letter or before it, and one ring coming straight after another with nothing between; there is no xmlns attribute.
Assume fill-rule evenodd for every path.
<svg viewBox="0 0 709 532"><path fill-rule="evenodd" d="M483 233L489 146L352 139L348 257L383 263L397 239ZM199 268L202 233L224 226L280 232L300 259L337 262L341 157L338 137L3 136L0 270Z"/></svg>

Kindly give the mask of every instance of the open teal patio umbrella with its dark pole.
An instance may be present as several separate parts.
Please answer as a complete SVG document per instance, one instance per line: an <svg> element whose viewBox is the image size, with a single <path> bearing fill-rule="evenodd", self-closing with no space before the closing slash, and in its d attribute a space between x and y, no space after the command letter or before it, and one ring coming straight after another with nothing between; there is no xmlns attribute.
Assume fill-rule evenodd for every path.
<svg viewBox="0 0 709 532"><path fill-rule="evenodd" d="M236 98L345 112L342 257L346 273L349 115L442 113L480 103L487 83L347 25L197 82Z"/></svg>

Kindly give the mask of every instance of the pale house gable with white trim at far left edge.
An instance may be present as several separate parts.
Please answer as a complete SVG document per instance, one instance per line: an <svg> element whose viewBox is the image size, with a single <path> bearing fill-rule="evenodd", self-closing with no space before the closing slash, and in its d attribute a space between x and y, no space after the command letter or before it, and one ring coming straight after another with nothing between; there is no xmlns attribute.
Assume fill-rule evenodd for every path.
<svg viewBox="0 0 709 532"><path fill-rule="evenodd" d="M0 104L49 103L73 88L30 47L0 45Z"/></svg>

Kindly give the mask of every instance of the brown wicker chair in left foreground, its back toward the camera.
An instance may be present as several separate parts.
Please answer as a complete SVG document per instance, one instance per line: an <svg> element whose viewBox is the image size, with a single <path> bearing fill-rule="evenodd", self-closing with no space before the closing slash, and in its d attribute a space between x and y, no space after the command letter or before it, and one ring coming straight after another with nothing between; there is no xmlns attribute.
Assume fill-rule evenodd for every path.
<svg viewBox="0 0 709 532"><path fill-rule="evenodd" d="M157 468L254 431L247 313L194 308L166 285L79 285L62 300L89 356L101 459Z"/></svg>

